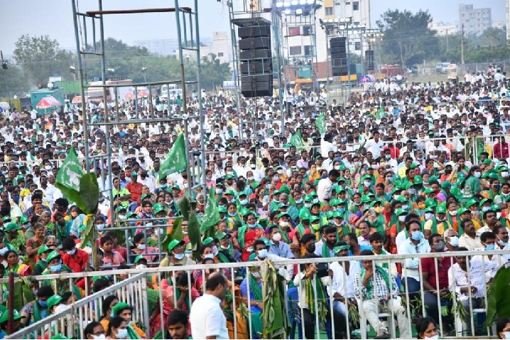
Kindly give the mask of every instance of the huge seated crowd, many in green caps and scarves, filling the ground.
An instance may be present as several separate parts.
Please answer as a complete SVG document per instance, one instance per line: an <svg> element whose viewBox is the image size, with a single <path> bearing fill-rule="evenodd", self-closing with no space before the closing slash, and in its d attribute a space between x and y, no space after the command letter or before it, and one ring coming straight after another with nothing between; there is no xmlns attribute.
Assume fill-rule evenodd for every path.
<svg viewBox="0 0 510 340"><path fill-rule="evenodd" d="M0 275L81 273L96 263L102 270L128 270L307 258L305 265L279 268L303 312L302 337L315 339L317 317L334 324L335 334L328 336L351 336L347 329L356 329L352 308L364 315L379 339L391 336L391 327L379 319L381 308L396 315L401 338L417 333L421 339L433 339L440 319L443 334L450 333L455 331L457 311L447 299L455 295L466 314L472 314L482 306L497 270L510 258L510 155L504 136L510 126L508 87L506 75L490 67L457 84L377 80L367 91L353 93L345 104L332 100L323 106L310 106L307 96L298 96L291 88L282 105L276 96L241 99L238 106L232 94L220 91L203 98L203 111L198 112L193 92L188 114L203 114L205 124L202 132L199 121L190 119L187 137L194 153L200 152L202 133L205 136L205 185L196 175L199 163L159 177L166 153L185 128L178 121L182 101L153 103L154 115L168 122L109 127L111 150L103 126L90 128L85 140L87 127L79 106L46 116L23 108L0 120ZM323 97L325 89L321 91ZM136 109L132 102L119 106L115 119L149 116L143 102ZM114 105L90 103L85 109L91 121L102 121L105 114L113 115ZM265 122L244 123L254 120ZM291 137L299 133L295 143ZM94 259L90 244L80 246L86 214L55 187L58 167L70 147L82 159L85 143L90 155L111 154L111 164L107 157L83 161L84 170L96 172L102 191ZM215 190L219 221L214 237L202 239L200 248L192 249L184 223L183 239L161 249L171 230L162 225L170 226L181 215L177 202L190 192L200 221L208 196L203 187ZM119 240L124 234L115 231L119 226L132 226L126 240ZM494 250L501 254L484 253ZM346 261L360 255L450 251L479 255L469 262L466 256L447 255L390 264ZM331 262L324 266L315 258ZM235 282L230 282L229 270L222 271L228 280L215 270L195 270L191 276L175 270L165 280L149 280L148 325L132 319L136 306L105 296L102 316L85 327L85 336L261 338L260 267L235 270ZM28 295L33 296L14 311L11 328L6 308L0 307L1 336L84 297L85 281L80 278L73 285L68 280L28 281L41 285L28 285ZM93 281L93 291L98 292L112 284L112 276ZM225 292L230 285L239 296ZM421 307L407 314L405 295L418 297L426 315ZM237 309L229 309L237 297ZM250 310L243 314L248 300ZM409 327L409 318L418 319L416 327ZM465 334L484 331L482 325L466 322ZM508 333L507 324L499 327L500 337ZM327 323L320 327L328 328Z"/></svg>

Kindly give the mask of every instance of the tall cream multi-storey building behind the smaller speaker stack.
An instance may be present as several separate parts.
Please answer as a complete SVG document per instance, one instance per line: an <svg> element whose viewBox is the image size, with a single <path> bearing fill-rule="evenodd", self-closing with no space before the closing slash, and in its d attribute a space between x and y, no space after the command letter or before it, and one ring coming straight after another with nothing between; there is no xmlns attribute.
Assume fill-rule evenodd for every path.
<svg viewBox="0 0 510 340"><path fill-rule="evenodd" d="M370 0L324 0L324 4L316 14L315 21L317 60L318 62L327 60L327 40L337 35L335 32L326 32L321 28L319 19L322 21L335 18L352 17L353 25L365 25L370 28ZM349 33L349 53L363 55L367 49L367 43L364 43L361 33Z"/></svg>

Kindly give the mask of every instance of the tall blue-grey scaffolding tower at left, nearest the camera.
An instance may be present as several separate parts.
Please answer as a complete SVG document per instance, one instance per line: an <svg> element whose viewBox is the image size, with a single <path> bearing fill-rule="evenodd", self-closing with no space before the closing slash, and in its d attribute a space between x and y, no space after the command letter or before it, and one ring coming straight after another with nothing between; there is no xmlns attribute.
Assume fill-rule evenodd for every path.
<svg viewBox="0 0 510 340"><path fill-rule="evenodd" d="M83 1L87 2L88 1ZM205 130L204 130L204 115L202 114L202 98L201 91L197 91L198 114L190 114L187 107L186 89L188 85L193 84L197 89L200 89L200 34L198 23L198 0L194 0L192 7L184 7L179 5L179 0L174 1L175 7L162 8L162 9L122 9L122 10L104 10L103 1L97 0L97 10L94 11L80 11L80 0L72 0L72 14L75 28L75 42L77 51L77 75L80 80L80 92L82 96L82 120L83 120L83 137L85 140L85 162L87 164L87 172L100 168L102 174L107 170L107 178L102 175L102 190L101 194L107 194L110 202L113 204L112 194L112 146L110 145L110 131L109 128L113 126L121 126L125 124L151 124L151 123L166 123L183 122L185 125L185 141L186 141L186 157L188 158L188 194L192 198L192 188L203 185L205 189ZM107 51L104 48L104 17L111 15L129 15L135 13L163 13L175 16L176 33L178 38L178 55L180 57L180 75L176 75L175 79L168 79L163 82L141 82L137 84L109 84L107 83ZM190 50L195 53L197 62L197 74L195 79L185 79L185 62L183 58L183 50ZM101 121L93 122L92 117L87 112L87 89L90 84L87 82L87 57L99 56L101 60L101 85L94 84L94 88L100 87L103 90L103 103L104 103L104 119ZM170 115L163 117L157 116L156 110L153 106L153 91L161 87L163 84L180 84L183 89L183 114L178 118L171 118ZM126 119L121 114L119 109L119 92L121 87L134 87L134 102L135 102L135 116L131 119ZM139 89L148 89L148 112L142 112L138 105ZM114 92L114 94L111 93ZM109 93L110 92L110 93ZM114 107L109 109L107 102L109 94L114 99ZM168 109L170 109L168 101ZM200 119L200 153L190 155L190 146L188 138L188 120ZM89 153L89 133L94 128L99 128L104 132L105 143L107 146L107 153L104 155L90 155ZM196 166L190 166L194 165ZM190 172L192 168L192 172ZM115 223L115 214L112 213L112 225ZM163 226L163 225L162 225ZM127 237L126 230L126 240ZM94 230L94 238L97 231ZM146 236L145 236L146 237ZM161 239L160 239L161 242ZM161 244L160 244L161 248ZM97 243L92 242L92 261L94 267L97 269ZM129 260L128 260L129 261Z"/></svg>

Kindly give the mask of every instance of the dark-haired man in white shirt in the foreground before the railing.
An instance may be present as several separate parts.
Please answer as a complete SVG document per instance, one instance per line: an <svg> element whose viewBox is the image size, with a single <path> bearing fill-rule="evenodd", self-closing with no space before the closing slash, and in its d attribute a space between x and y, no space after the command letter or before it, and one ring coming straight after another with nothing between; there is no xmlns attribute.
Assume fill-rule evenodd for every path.
<svg viewBox="0 0 510 340"><path fill-rule="evenodd" d="M213 273L205 283L205 294L190 311L191 335L194 339L229 339L227 318L221 303L227 295L228 281L222 273Z"/></svg>

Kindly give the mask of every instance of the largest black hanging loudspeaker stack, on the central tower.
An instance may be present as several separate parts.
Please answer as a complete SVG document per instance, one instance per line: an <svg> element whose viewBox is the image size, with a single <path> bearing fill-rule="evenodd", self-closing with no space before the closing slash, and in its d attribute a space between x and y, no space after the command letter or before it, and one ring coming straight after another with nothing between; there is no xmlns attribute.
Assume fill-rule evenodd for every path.
<svg viewBox="0 0 510 340"><path fill-rule="evenodd" d="M271 25L261 22L256 26L239 27L237 35L241 93L246 98L272 96Z"/></svg>

